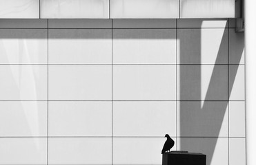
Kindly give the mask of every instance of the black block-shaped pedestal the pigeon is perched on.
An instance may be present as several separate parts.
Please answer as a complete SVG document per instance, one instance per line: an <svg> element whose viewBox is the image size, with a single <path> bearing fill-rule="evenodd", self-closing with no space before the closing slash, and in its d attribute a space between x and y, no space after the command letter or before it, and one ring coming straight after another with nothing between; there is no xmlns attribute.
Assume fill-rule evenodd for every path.
<svg viewBox="0 0 256 165"><path fill-rule="evenodd" d="M171 151L163 154L162 165L206 165L206 155L186 151Z"/></svg>

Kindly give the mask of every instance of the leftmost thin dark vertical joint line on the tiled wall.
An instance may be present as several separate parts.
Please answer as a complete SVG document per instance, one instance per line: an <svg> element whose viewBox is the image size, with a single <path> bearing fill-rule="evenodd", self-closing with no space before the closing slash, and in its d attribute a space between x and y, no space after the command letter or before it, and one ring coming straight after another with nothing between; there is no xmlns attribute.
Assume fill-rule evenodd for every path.
<svg viewBox="0 0 256 165"><path fill-rule="evenodd" d="M47 165L49 164L49 19L47 19Z"/></svg>

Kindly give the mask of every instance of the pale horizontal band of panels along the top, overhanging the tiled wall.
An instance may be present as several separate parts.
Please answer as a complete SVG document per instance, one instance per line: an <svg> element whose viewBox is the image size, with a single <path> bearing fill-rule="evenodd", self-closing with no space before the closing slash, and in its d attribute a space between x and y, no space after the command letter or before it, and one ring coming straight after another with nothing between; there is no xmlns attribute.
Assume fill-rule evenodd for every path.
<svg viewBox="0 0 256 165"><path fill-rule="evenodd" d="M0 0L1 19L239 18L242 0Z"/></svg>

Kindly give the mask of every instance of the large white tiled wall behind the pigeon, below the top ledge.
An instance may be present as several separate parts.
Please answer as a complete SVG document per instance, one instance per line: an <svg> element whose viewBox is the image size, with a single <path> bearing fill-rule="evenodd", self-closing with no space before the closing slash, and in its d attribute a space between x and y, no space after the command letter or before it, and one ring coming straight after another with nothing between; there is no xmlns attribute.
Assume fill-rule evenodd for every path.
<svg viewBox="0 0 256 165"><path fill-rule="evenodd" d="M231 21L0 20L0 164L161 164L166 133L207 165L245 164Z"/></svg>

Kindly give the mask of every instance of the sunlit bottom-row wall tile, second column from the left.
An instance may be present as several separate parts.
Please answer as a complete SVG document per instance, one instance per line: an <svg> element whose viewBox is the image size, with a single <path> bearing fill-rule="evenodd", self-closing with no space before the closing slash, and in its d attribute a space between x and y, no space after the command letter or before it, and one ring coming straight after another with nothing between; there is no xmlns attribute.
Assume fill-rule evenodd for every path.
<svg viewBox="0 0 256 165"><path fill-rule="evenodd" d="M50 137L49 164L111 164L111 144L110 137Z"/></svg>

